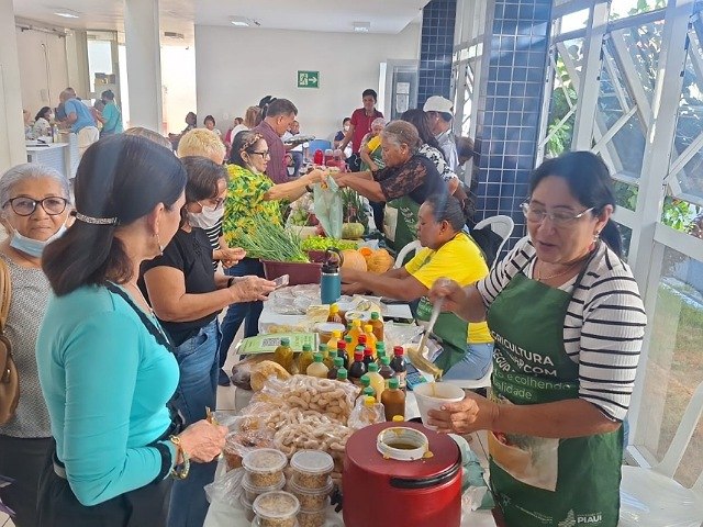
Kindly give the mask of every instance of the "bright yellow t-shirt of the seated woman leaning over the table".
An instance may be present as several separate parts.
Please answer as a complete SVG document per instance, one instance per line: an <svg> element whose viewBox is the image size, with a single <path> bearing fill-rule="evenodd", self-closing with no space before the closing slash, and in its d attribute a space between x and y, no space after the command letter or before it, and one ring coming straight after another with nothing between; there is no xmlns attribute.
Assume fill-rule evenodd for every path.
<svg viewBox="0 0 703 527"><path fill-rule="evenodd" d="M404 266L425 288L431 289L438 278L449 278L467 287L488 276L488 266L476 242L465 233L458 233L439 250L422 249ZM467 343L492 343L488 324L470 323Z"/></svg>

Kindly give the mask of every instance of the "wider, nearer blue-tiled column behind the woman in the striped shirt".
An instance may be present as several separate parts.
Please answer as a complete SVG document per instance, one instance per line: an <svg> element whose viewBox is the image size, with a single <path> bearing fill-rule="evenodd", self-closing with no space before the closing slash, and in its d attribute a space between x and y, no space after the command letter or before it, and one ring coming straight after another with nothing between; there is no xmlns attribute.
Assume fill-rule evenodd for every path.
<svg viewBox="0 0 703 527"><path fill-rule="evenodd" d="M494 16L492 31L487 27L490 61L478 100L477 220L512 216L514 242L525 233L520 204L537 152L551 0L489 1Z"/></svg>

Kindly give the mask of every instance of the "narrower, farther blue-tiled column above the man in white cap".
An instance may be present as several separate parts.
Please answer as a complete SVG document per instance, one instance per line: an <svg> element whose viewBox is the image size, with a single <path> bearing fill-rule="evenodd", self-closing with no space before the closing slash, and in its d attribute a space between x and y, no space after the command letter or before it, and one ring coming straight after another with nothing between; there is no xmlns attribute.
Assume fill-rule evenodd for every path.
<svg viewBox="0 0 703 527"><path fill-rule="evenodd" d="M449 99L456 15L457 0L432 0L423 10L417 91L421 108L432 96Z"/></svg>

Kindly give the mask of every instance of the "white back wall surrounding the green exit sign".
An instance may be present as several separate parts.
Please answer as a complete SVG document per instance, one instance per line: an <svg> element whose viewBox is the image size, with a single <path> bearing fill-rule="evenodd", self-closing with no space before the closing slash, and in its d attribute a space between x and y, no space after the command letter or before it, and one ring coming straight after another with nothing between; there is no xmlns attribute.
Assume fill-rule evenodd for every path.
<svg viewBox="0 0 703 527"><path fill-rule="evenodd" d="M196 25L198 121L212 114L224 131L266 94L298 106L303 134L327 137L378 91L379 65L419 59L420 25L398 35ZM297 70L320 71L320 89L297 88Z"/></svg>

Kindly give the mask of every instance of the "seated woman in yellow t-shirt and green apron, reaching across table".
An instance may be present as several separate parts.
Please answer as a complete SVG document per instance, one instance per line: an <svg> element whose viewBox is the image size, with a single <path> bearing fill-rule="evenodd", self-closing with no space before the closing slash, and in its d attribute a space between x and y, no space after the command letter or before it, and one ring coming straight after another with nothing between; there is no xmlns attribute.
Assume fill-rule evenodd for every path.
<svg viewBox="0 0 703 527"><path fill-rule="evenodd" d="M346 293L365 293L405 301L420 301L419 323L427 322L432 304L427 292L434 282L448 277L462 287L488 274L488 266L478 245L462 232L464 212L459 200L450 195L431 195L420 208L417 238L424 247L399 269L382 274L342 269ZM468 324L454 313L442 313L434 327L442 346L435 363L445 379L480 379L488 371L493 340L486 322Z"/></svg>

